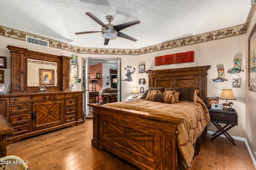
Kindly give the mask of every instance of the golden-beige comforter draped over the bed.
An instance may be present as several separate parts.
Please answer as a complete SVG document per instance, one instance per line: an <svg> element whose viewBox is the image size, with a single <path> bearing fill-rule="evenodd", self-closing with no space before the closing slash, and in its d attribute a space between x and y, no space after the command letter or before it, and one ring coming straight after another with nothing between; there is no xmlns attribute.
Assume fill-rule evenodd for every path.
<svg viewBox="0 0 256 170"><path fill-rule="evenodd" d="M105 105L184 119L184 123L178 125L178 148L188 166L191 166L194 156L193 143L201 135L205 126L210 123L208 109L198 96L197 103L179 102L164 104L162 102L150 102L139 99L128 102L108 103Z"/></svg>

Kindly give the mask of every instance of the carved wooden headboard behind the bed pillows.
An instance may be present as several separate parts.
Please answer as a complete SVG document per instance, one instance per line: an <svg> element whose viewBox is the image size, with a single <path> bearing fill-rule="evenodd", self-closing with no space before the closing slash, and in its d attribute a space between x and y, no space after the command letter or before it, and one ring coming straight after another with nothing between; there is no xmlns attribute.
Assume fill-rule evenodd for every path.
<svg viewBox="0 0 256 170"><path fill-rule="evenodd" d="M194 88L199 90L197 94L205 103L207 97L207 70L211 66L196 66L186 68L173 68L165 70L149 70L149 87L166 88Z"/></svg>

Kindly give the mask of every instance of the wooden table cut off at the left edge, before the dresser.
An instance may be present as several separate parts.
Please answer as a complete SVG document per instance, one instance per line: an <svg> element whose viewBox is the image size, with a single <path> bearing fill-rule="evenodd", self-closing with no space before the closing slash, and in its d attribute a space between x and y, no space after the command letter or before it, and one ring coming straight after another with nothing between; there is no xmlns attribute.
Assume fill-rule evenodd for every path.
<svg viewBox="0 0 256 170"><path fill-rule="evenodd" d="M0 158L6 156L7 137L11 135L13 129L4 115L0 114Z"/></svg>

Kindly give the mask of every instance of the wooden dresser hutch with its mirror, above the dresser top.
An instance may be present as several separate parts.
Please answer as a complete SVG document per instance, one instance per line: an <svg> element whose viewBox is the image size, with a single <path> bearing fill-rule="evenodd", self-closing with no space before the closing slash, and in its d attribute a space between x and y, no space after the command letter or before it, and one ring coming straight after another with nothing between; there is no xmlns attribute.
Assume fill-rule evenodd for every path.
<svg viewBox="0 0 256 170"><path fill-rule="evenodd" d="M71 57L58 56L8 45L11 52L11 93L70 91Z"/></svg>

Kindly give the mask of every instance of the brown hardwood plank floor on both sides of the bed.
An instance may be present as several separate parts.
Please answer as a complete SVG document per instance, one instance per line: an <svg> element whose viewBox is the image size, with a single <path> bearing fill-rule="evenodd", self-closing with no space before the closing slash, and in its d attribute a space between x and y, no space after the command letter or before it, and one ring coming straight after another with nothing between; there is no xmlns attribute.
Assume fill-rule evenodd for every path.
<svg viewBox="0 0 256 170"><path fill-rule="evenodd" d="M218 137L204 138L190 170L255 170L246 145ZM92 119L83 125L46 133L7 146L7 155L28 160L30 170L138 170L124 160L91 146Z"/></svg>

